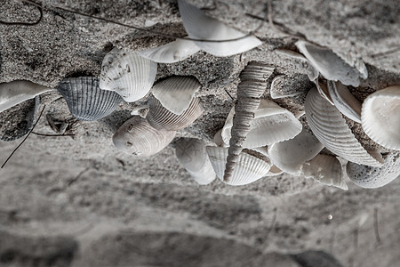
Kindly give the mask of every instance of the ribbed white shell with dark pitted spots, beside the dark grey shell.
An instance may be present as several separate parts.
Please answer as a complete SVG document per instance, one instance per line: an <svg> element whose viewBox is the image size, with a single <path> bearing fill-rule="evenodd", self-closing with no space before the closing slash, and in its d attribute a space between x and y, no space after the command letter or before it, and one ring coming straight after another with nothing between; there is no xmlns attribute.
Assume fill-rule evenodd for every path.
<svg viewBox="0 0 400 267"><path fill-rule="evenodd" d="M137 101L150 91L156 73L156 62L114 48L101 64L100 88L119 93L124 101Z"/></svg>

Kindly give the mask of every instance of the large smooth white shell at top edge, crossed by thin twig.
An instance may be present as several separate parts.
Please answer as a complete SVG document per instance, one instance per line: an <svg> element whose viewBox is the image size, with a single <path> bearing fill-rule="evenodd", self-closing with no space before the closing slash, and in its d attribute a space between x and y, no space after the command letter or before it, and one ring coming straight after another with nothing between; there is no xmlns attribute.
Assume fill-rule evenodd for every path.
<svg viewBox="0 0 400 267"><path fill-rule="evenodd" d="M228 27L219 20L204 15L204 12L193 4L188 4L184 0L178 0L178 5L180 18L190 38L202 40L230 40L240 38L236 41L227 42L195 42L206 53L226 57L237 53L244 53L262 44L255 36L247 36L235 28Z"/></svg>

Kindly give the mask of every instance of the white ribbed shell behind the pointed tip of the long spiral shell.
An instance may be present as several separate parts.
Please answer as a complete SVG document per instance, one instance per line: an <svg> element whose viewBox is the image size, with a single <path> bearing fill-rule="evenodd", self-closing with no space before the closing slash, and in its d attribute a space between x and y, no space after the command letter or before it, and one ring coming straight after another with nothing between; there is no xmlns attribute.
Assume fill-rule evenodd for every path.
<svg viewBox="0 0 400 267"><path fill-rule="evenodd" d="M218 178L220 178L222 182L226 182L223 177L227 163L228 149L207 147L206 150L215 174L217 174ZM236 167L232 172L230 179L226 183L230 185L244 185L255 182L266 176L270 167L270 162L241 152L236 161Z"/></svg>

